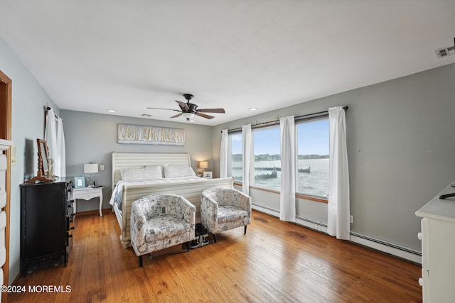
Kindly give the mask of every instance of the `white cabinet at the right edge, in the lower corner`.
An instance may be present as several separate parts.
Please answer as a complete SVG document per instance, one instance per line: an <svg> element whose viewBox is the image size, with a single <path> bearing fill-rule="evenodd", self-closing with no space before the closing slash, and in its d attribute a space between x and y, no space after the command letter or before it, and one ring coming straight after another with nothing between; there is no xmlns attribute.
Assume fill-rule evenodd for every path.
<svg viewBox="0 0 455 303"><path fill-rule="evenodd" d="M440 194L455 192L448 186ZM439 194L438 194L439 196ZM438 199L416 211L422 217L423 302L454 302L455 298L455 197Z"/></svg>

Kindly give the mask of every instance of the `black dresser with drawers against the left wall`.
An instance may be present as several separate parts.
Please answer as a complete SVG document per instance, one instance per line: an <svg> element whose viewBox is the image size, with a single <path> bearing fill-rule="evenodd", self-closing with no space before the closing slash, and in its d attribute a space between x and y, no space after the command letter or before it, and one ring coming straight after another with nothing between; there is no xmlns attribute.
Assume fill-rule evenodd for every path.
<svg viewBox="0 0 455 303"><path fill-rule="evenodd" d="M73 177L21 184L21 275L68 262L73 242Z"/></svg>

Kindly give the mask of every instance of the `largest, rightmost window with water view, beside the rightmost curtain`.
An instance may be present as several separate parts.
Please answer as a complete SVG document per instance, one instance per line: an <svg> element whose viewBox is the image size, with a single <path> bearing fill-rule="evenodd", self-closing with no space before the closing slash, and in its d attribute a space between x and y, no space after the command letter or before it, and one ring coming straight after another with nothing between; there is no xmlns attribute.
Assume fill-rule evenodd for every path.
<svg viewBox="0 0 455 303"><path fill-rule="evenodd" d="M328 199L328 119L296 123L296 192Z"/></svg>

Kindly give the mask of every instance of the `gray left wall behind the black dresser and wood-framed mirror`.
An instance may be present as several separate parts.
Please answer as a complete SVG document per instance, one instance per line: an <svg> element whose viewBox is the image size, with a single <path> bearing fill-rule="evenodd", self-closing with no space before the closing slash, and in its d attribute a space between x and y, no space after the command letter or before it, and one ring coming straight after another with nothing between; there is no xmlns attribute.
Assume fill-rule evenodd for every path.
<svg viewBox="0 0 455 303"><path fill-rule="evenodd" d="M37 138L44 138L45 107L49 104L58 113L58 109L48 94L21 60L0 38L0 70L11 79L11 139L16 145L17 164L11 166L11 208L9 214L9 283L19 272L20 222L22 184L38 170Z"/></svg>

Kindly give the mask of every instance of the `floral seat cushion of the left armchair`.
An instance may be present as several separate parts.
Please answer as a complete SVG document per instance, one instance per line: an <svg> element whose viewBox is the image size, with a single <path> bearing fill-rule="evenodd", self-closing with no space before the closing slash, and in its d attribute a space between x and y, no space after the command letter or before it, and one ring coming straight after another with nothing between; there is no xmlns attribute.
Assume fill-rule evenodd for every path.
<svg viewBox="0 0 455 303"><path fill-rule="evenodd" d="M173 238L183 233L188 233L191 226L181 216L175 214L162 214L154 216L153 220L146 222L145 241L157 241L164 238Z"/></svg>

